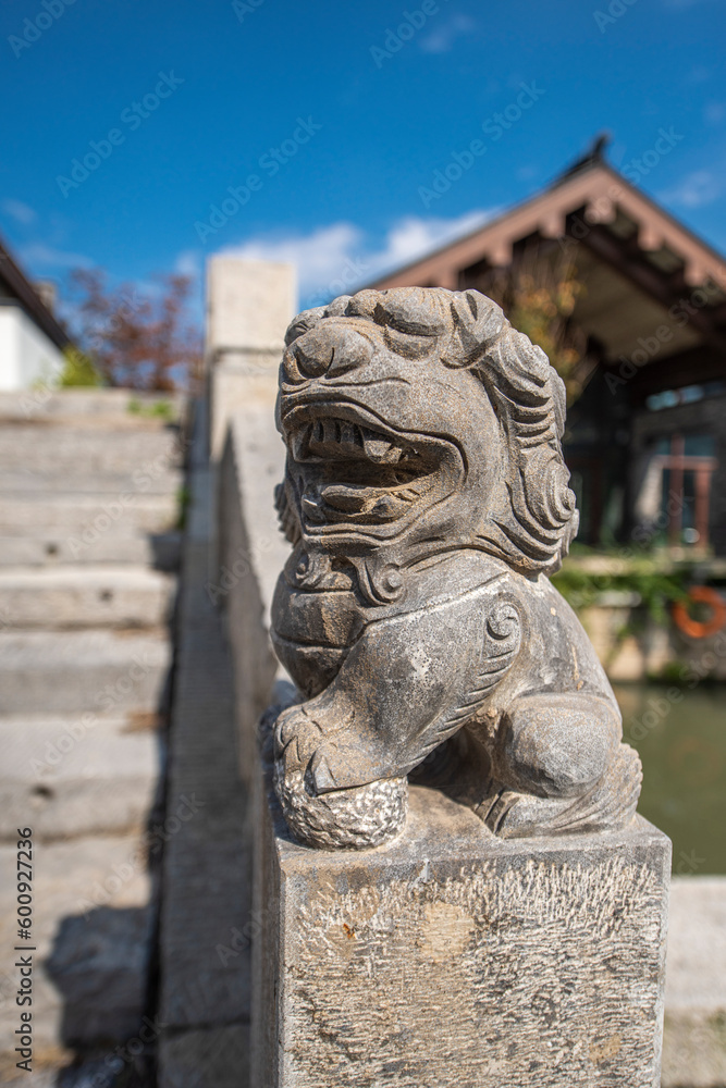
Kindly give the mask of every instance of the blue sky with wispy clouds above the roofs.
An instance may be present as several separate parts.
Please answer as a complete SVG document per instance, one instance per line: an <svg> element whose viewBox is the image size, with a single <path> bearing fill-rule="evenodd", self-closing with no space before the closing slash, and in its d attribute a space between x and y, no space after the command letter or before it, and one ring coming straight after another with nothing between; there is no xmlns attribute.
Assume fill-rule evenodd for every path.
<svg viewBox="0 0 726 1088"><path fill-rule="evenodd" d="M4 0L0 230L61 284L291 259L305 302L664 128L639 185L725 251L724 40L723 0Z"/></svg>

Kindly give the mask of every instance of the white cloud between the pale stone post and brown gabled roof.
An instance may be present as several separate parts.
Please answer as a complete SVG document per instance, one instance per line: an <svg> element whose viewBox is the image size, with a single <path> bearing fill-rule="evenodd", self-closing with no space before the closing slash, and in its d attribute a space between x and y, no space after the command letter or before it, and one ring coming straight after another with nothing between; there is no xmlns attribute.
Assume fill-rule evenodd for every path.
<svg viewBox="0 0 726 1088"><path fill-rule="evenodd" d="M310 234L250 238L223 251L247 260L295 264L302 304L319 305L482 226L492 214L471 211L456 219L406 215L392 224L379 246L361 227L339 222Z"/></svg>

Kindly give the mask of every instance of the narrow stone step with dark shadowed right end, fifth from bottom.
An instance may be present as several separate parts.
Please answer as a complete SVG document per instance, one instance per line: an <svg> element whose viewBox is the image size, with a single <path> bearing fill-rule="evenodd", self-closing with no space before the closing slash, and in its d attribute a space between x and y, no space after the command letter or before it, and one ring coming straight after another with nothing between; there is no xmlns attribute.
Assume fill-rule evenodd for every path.
<svg viewBox="0 0 726 1088"><path fill-rule="evenodd" d="M137 533L116 535L113 532L87 533L84 539L62 533L37 533L33 536L0 534L0 570L24 565L45 566L77 564L139 564L159 570L176 570L181 549L181 533Z"/></svg>

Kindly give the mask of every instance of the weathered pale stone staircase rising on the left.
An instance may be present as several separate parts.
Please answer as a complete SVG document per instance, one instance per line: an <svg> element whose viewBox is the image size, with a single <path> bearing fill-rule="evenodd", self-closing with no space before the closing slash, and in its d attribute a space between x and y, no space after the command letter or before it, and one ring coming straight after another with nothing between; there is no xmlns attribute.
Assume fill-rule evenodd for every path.
<svg viewBox="0 0 726 1088"><path fill-rule="evenodd" d="M40 1085L146 1007L185 442L159 396L29 404L0 395L0 1083L23 1076L4 874L32 827Z"/></svg>

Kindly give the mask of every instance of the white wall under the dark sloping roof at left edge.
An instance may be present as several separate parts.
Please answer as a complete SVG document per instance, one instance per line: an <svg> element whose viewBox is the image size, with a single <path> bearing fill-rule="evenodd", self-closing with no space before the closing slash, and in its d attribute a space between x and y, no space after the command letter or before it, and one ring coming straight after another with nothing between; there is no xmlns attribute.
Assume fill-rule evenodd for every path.
<svg viewBox="0 0 726 1088"><path fill-rule="evenodd" d="M29 390L53 383L63 353L30 321L20 306L0 306L0 391Z"/></svg>

